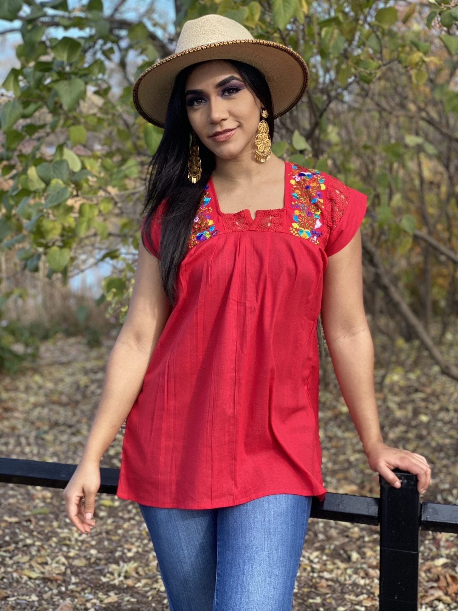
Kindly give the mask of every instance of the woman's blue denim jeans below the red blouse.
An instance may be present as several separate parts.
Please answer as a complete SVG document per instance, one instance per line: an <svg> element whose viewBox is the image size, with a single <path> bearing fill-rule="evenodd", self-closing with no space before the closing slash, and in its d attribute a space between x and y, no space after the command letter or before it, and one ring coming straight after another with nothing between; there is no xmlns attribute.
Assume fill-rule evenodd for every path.
<svg viewBox="0 0 458 611"><path fill-rule="evenodd" d="M291 611L311 496L233 507L139 504L170 611Z"/></svg>

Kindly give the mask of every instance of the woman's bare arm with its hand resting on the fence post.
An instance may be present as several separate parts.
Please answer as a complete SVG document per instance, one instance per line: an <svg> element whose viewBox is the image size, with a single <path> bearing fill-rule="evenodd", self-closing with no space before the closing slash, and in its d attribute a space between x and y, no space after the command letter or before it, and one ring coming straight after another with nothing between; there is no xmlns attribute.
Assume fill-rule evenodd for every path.
<svg viewBox="0 0 458 611"><path fill-rule="evenodd" d="M323 280L321 320L337 381L369 466L399 487L391 469L418 475L418 490L426 490L431 469L424 456L390 448L380 432L374 390L374 345L363 305L360 231L341 251L329 257ZM400 484L399 484L400 485Z"/></svg>

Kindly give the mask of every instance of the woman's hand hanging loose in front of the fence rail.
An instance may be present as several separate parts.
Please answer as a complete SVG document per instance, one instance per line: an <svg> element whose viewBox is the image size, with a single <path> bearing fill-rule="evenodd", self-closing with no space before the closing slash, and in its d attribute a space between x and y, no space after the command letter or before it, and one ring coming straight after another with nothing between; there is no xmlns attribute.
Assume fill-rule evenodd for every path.
<svg viewBox="0 0 458 611"><path fill-rule="evenodd" d="M95 526L92 516L95 511L95 495L99 488L100 465L81 461L62 492L67 516L82 533L90 533L91 528Z"/></svg>

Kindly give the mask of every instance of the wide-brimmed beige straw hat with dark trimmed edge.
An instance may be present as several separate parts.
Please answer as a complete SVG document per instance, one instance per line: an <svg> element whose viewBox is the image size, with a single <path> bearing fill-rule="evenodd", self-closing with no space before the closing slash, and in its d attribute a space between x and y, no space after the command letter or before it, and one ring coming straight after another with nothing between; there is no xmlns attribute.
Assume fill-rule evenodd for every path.
<svg viewBox="0 0 458 611"><path fill-rule="evenodd" d="M140 115L164 127L176 75L210 59L237 59L258 68L271 90L275 118L293 108L307 89L308 68L299 53L271 40L253 38L237 21L205 15L186 21L175 53L151 65L137 79L133 98Z"/></svg>

